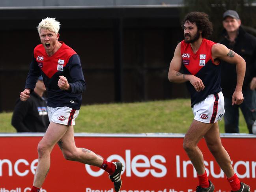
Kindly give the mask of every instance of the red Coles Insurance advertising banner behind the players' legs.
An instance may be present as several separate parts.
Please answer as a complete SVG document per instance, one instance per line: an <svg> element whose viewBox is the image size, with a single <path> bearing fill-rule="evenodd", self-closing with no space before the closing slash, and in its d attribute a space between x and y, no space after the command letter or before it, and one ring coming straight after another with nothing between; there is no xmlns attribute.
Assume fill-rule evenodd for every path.
<svg viewBox="0 0 256 192"><path fill-rule="evenodd" d="M37 144L42 135L0 135L0 192L29 192L37 166ZM120 192L194 192L196 171L183 150L183 135L76 134L77 147L90 149L108 161L121 161ZM239 179L256 192L256 136L222 137ZM201 140L199 147L216 192L230 186L223 171ZM51 154L50 171L41 192L114 192L108 174L89 165L65 160L58 145Z"/></svg>

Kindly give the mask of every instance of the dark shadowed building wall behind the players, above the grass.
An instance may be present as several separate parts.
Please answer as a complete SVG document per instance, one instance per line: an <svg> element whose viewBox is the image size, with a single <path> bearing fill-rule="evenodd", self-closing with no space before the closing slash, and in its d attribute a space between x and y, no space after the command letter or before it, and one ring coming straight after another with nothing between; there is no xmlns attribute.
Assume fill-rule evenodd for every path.
<svg viewBox="0 0 256 192"><path fill-rule="evenodd" d="M25 10L21 13L14 10L11 12L13 14L8 13L9 15L5 12L0 13L0 21L2 26L5 26L0 29L2 37L0 110L13 110L15 101L24 90L33 49L40 43L36 26L44 14L47 15L47 11L49 10L42 10L40 13L38 10ZM77 12L77 10L73 11ZM81 13L86 11L87 9ZM69 14L65 14L66 10L56 15L54 11L52 12L49 13L50 17L60 18L58 19L61 22L59 40L72 47L81 58L87 84L82 104L115 102L114 21L116 19L104 18L104 15L96 19L88 18L87 15L81 16L75 12L69 17ZM174 49L183 39L179 19L165 16L138 17L130 10L128 12L133 17L122 19L122 101L187 97L185 84L172 84L167 78ZM145 11L148 12L150 11ZM166 12L169 13L168 10ZM92 14L94 15L97 14Z"/></svg>

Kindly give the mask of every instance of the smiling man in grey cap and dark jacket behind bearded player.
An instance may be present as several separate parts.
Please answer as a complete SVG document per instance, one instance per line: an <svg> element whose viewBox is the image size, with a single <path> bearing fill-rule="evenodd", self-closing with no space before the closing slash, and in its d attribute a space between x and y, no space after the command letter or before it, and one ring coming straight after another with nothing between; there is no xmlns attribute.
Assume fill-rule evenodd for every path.
<svg viewBox="0 0 256 192"><path fill-rule="evenodd" d="M240 105L232 105L232 95L237 78L235 65L222 62L221 88L225 101L225 132L239 133L240 107L249 133L252 133L252 125L256 119L256 37L243 30L239 15L234 10L228 10L223 14L222 24L224 38L220 43L242 56L246 61L246 73L243 83L244 101Z"/></svg>

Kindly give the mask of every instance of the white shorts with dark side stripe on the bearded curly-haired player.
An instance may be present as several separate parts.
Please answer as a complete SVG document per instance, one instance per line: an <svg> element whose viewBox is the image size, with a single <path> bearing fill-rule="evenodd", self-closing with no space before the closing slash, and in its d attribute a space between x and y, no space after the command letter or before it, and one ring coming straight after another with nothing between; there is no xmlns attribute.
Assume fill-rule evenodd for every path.
<svg viewBox="0 0 256 192"><path fill-rule="evenodd" d="M220 121L225 113L224 97L222 92L211 94L204 101L196 103L192 111L194 119L203 123L215 123Z"/></svg>

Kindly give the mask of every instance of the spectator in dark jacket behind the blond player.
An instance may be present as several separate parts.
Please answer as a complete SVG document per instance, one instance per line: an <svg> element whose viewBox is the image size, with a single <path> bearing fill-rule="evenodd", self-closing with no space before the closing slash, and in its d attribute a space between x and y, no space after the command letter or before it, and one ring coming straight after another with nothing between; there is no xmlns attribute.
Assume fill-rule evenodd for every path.
<svg viewBox="0 0 256 192"><path fill-rule="evenodd" d="M43 77L37 80L34 92L30 94L28 101L19 98L15 104L11 125L17 132L45 132L49 125L47 103L43 98L45 93Z"/></svg>

